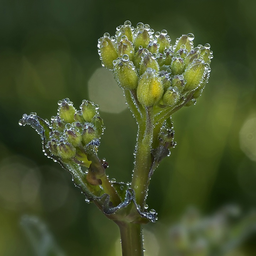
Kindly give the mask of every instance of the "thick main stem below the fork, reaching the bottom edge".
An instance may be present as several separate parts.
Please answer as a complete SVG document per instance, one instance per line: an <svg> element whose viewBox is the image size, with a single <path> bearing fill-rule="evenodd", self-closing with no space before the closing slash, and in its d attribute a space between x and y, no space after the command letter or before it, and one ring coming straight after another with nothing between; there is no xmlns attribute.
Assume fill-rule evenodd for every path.
<svg viewBox="0 0 256 256"><path fill-rule="evenodd" d="M120 230L122 255L143 256L142 225L128 222L117 222Z"/></svg>

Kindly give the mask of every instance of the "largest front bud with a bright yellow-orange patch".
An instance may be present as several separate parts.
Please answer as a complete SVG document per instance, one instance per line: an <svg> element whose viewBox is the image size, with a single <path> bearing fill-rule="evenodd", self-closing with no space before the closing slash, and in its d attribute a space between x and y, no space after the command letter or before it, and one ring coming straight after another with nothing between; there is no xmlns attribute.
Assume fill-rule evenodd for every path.
<svg viewBox="0 0 256 256"><path fill-rule="evenodd" d="M155 70L147 68L141 76L137 88L139 102L145 107L154 106L161 100L163 92L161 78Z"/></svg>

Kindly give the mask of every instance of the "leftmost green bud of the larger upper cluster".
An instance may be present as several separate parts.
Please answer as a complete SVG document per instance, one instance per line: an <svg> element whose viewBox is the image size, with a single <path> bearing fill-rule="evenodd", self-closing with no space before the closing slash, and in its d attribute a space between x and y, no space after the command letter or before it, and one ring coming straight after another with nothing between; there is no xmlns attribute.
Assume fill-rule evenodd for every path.
<svg viewBox="0 0 256 256"><path fill-rule="evenodd" d="M118 57L114 41L115 38L111 37L110 39L110 35L108 33L105 33L104 37L98 39L98 52L100 54L102 64L108 69L113 68L113 60L117 59Z"/></svg>

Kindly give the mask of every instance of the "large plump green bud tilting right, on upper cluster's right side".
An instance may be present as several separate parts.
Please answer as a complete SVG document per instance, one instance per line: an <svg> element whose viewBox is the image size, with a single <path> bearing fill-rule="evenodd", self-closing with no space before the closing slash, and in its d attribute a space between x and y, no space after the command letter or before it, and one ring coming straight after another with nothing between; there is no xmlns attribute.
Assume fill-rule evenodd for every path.
<svg viewBox="0 0 256 256"><path fill-rule="evenodd" d="M183 73L184 79L187 80L185 89L187 91L196 89L203 82L205 74L205 64L197 59L193 64L189 65Z"/></svg>

